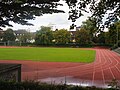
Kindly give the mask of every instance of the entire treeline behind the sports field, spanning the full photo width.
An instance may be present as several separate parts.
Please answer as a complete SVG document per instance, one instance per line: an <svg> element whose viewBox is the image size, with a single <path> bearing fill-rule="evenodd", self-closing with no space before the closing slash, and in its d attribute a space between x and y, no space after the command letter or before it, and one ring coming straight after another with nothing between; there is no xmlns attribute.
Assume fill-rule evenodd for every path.
<svg viewBox="0 0 120 90"><path fill-rule="evenodd" d="M37 46L120 46L120 21L114 22L108 27L108 31L97 27L95 18L88 18L75 31L56 29L41 26L36 33L15 35L12 29L0 33L1 42L20 41L21 43L33 43ZM32 42L31 42L32 41Z"/></svg>

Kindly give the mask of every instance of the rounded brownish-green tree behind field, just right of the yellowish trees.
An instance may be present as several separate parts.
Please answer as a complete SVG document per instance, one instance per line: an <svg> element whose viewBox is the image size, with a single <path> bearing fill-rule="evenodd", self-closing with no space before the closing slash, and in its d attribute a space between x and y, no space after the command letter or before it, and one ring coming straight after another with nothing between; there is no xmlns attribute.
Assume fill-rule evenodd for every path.
<svg viewBox="0 0 120 90"><path fill-rule="evenodd" d="M90 43L89 32L85 29L80 29L76 31L75 35L76 43L79 45L87 45Z"/></svg>

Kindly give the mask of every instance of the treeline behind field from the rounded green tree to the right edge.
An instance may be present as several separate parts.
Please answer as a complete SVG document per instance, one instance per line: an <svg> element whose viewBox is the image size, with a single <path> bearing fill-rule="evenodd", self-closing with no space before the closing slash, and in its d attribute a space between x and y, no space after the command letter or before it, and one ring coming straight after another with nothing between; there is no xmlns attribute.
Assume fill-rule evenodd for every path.
<svg viewBox="0 0 120 90"><path fill-rule="evenodd" d="M52 31L50 27L41 26L36 32L36 45L63 46L120 46L120 22L115 22L107 31L99 30L94 18L89 18L76 31L60 29Z"/></svg>

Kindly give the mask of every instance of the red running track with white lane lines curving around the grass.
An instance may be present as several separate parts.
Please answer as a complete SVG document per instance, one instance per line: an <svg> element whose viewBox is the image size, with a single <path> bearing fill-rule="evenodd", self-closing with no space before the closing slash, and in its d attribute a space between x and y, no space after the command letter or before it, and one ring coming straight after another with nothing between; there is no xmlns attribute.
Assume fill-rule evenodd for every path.
<svg viewBox="0 0 120 90"><path fill-rule="evenodd" d="M90 86L106 87L112 79L117 79L120 83L120 55L109 49L94 50L96 50L95 62L89 64L16 60L0 62L22 64L22 80L70 76Z"/></svg>

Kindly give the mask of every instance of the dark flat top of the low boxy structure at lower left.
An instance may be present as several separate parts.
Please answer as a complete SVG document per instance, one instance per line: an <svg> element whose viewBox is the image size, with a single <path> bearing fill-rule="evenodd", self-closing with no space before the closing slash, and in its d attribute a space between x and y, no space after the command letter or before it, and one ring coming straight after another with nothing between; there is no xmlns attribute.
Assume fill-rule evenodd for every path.
<svg viewBox="0 0 120 90"><path fill-rule="evenodd" d="M0 74L7 71L15 70L20 67L21 67L21 64L0 63Z"/></svg>

